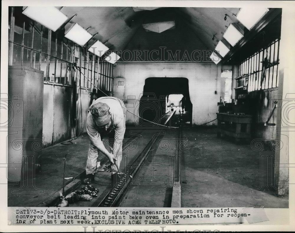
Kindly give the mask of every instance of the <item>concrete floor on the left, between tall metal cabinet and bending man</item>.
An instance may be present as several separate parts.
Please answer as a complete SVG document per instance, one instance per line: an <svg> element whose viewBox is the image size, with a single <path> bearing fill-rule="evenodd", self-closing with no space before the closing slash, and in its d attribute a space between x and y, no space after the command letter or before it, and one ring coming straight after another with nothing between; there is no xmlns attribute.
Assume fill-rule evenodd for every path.
<svg viewBox="0 0 295 233"><path fill-rule="evenodd" d="M126 129L125 140L131 137ZM8 185L8 206L37 206L63 187L64 156L67 153L65 177L76 177L85 170L89 136L81 135L73 144L56 144L42 150L41 172L35 174L34 185ZM99 154L99 159L104 155ZM107 172L108 173L108 172ZM110 173L108 173L109 175ZM73 181L66 180L65 185ZM26 183L26 182L23 182Z"/></svg>

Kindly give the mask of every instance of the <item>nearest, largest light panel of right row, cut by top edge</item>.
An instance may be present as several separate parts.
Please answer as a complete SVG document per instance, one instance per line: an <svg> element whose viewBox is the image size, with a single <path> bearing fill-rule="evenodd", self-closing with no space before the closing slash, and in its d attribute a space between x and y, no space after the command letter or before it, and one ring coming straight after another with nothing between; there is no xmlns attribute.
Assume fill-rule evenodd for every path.
<svg viewBox="0 0 295 233"><path fill-rule="evenodd" d="M237 20L250 30L268 11L268 8L241 8Z"/></svg>

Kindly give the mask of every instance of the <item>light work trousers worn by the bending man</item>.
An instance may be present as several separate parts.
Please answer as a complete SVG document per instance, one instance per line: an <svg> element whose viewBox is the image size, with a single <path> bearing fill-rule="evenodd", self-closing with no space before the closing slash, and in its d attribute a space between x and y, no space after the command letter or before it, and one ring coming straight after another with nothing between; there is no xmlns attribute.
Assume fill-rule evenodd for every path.
<svg viewBox="0 0 295 233"><path fill-rule="evenodd" d="M101 135L101 140L104 136ZM110 145L111 153L112 151L112 145L114 143L114 134L109 135L109 140L107 141ZM99 150L96 146L93 145L93 143L90 141L89 143L89 150L88 150L88 157L86 162L86 175L88 174L94 174L97 172L97 159L99 155ZM122 160L122 142L119 149L119 152L117 153L117 156L115 157L116 164L120 168L121 160ZM116 165L112 165L112 170L118 171ZM114 174L115 172L112 172Z"/></svg>

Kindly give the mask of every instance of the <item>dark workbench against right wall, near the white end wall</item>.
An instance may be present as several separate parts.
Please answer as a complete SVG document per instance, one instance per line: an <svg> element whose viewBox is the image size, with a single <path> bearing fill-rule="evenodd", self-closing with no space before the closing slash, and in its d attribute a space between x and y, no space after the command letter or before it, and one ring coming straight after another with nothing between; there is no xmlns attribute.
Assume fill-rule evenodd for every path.
<svg viewBox="0 0 295 233"><path fill-rule="evenodd" d="M217 137L222 134L235 138L236 142L240 139L251 139L252 115L234 115L228 113L217 114Z"/></svg>

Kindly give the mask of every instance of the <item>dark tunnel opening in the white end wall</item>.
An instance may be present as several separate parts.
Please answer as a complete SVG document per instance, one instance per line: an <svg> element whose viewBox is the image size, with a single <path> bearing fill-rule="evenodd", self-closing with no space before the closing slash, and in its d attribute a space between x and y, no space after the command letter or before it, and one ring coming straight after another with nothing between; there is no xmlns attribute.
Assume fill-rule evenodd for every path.
<svg viewBox="0 0 295 233"><path fill-rule="evenodd" d="M192 103L189 97L189 80L187 78L151 77L145 79L143 94L140 98L139 115L149 121L160 123L165 115L166 99L171 94L182 94L182 102L191 123ZM179 103L175 104L179 105ZM153 126L153 123L140 119L140 125Z"/></svg>

